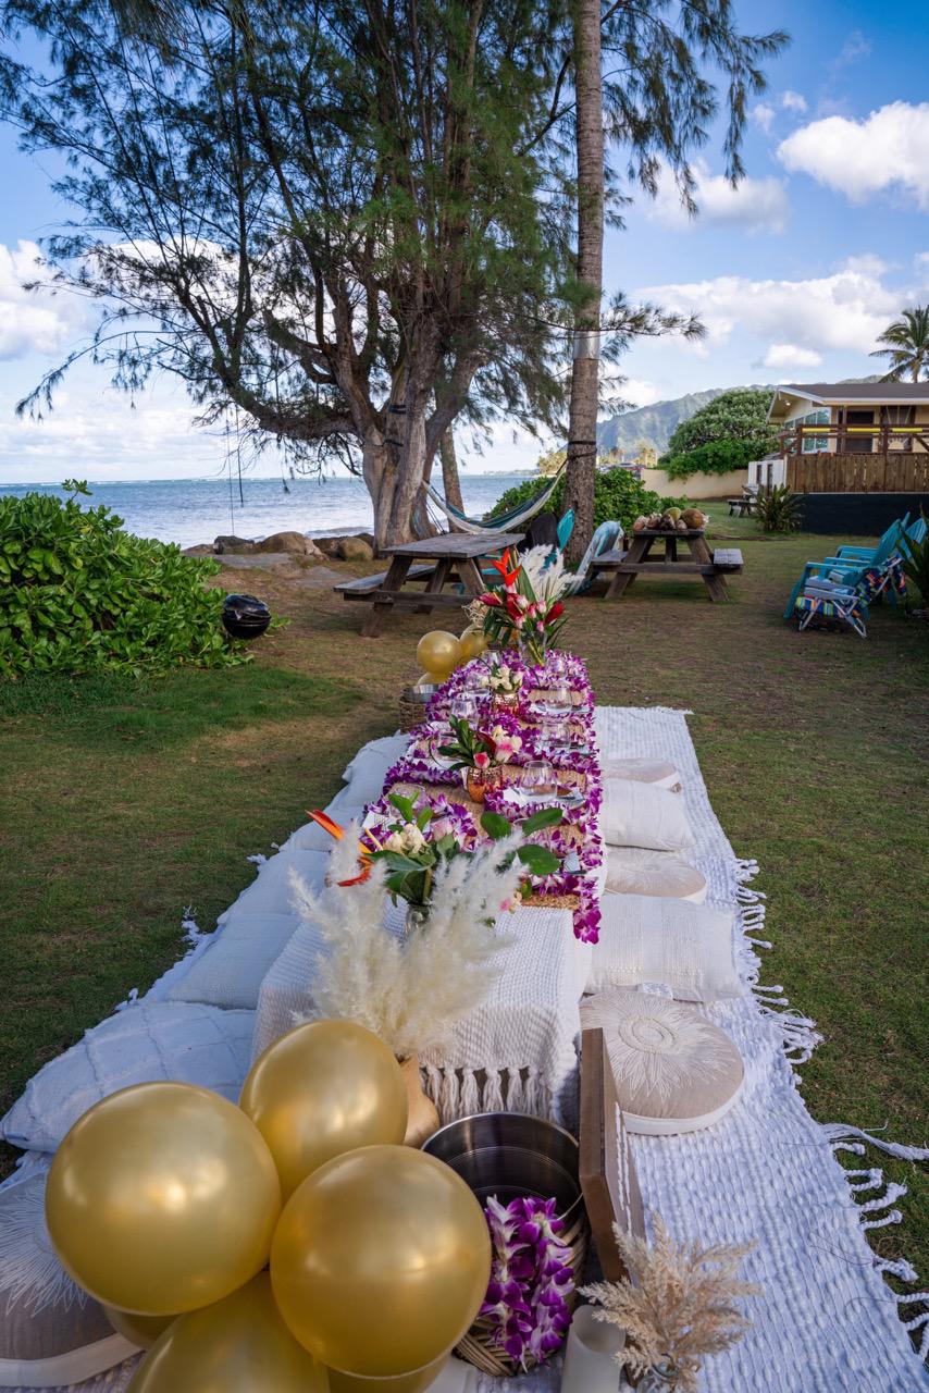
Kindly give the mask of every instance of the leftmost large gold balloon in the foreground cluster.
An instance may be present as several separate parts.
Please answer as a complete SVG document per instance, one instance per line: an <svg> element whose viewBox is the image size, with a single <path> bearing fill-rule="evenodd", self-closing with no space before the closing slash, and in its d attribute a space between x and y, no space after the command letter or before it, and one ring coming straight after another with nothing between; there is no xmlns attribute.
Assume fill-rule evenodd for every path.
<svg viewBox="0 0 929 1393"><path fill-rule="evenodd" d="M267 1262L280 1181L255 1123L192 1084L135 1084L79 1117L49 1172L58 1258L104 1305L194 1311Z"/></svg>

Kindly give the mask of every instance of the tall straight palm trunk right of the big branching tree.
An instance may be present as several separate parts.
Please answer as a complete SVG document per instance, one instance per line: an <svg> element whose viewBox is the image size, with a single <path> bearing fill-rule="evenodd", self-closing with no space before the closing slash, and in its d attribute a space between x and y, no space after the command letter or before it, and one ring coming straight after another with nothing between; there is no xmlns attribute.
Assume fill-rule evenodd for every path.
<svg viewBox="0 0 929 1393"><path fill-rule="evenodd" d="M598 359L603 293L603 74L600 0L574 0L574 88L578 148L578 281L564 507L574 508L568 560L593 535Z"/></svg>

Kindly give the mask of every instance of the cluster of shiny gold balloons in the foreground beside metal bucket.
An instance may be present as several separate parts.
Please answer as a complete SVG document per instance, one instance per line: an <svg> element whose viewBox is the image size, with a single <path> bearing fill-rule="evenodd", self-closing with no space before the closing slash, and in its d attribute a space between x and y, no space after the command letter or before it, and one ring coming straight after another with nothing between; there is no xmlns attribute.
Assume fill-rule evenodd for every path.
<svg viewBox="0 0 929 1393"><path fill-rule="evenodd" d="M130 1393L419 1393L490 1276L481 1205L403 1146L387 1046L316 1021L255 1061L240 1106L192 1084L96 1103L49 1172L70 1275L148 1348Z"/></svg>

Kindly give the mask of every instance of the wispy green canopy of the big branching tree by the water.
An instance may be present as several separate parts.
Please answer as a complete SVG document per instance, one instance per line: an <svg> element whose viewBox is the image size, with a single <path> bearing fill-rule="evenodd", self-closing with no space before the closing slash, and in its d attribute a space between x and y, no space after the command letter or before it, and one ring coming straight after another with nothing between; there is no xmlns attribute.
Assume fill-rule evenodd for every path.
<svg viewBox="0 0 929 1393"><path fill-rule="evenodd" d="M0 60L0 114L26 149L65 156L57 189L84 215L49 240L50 274L100 306L92 344L26 407L50 405L82 352L132 391L167 369L205 422L234 411L301 467L361 472L382 543L409 534L455 418L563 425L578 297L567 0L141 8L163 22L138 36L106 0L0 6L49 57ZM687 152L717 106L703 63L727 75L738 174L747 95L783 36L742 38L728 0L674 22L660 0L607 7L603 24L627 177L653 188L664 159L688 196ZM614 355L637 334L698 332L621 295L602 322Z"/></svg>

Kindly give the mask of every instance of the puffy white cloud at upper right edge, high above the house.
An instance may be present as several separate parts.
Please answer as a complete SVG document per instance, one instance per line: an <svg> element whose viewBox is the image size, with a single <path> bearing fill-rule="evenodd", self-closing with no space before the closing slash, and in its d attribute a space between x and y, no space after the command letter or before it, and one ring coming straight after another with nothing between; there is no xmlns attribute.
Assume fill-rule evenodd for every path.
<svg viewBox="0 0 929 1393"><path fill-rule="evenodd" d="M859 121L811 121L781 141L777 157L852 203L897 188L929 212L929 102L891 102Z"/></svg>

